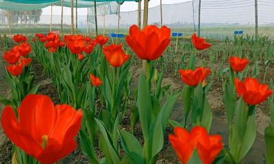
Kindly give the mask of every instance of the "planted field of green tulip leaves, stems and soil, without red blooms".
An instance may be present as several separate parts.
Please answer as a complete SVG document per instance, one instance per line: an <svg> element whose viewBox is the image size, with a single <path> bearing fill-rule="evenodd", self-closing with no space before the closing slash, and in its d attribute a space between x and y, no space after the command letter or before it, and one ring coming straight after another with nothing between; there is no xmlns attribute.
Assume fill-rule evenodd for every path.
<svg viewBox="0 0 274 164"><path fill-rule="evenodd" d="M211 38L206 39L206 41L212 44L210 49L203 51L195 49L190 37L179 38L178 40L177 38L171 38L171 44L167 46L164 54L147 64L146 76L149 80L146 80L142 75L142 60L139 59L124 38L117 40L117 43L123 43L123 50L126 54L131 55L130 59L123 63L123 66L114 67L108 64L100 45L95 46L90 55L85 54L83 60L78 60L77 55L73 55L71 49L66 46L60 46L56 52L49 53L44 44L37 38L34 42L31 41L32 38L35 38L34 33L44 33L47 31L47 27L14 28L12 32L25 33L29 44L32 46L32 52L28 56L32 58L32 63L23 72L26 79L29 76L34 76L33 84L29 84L31 85L30 88L27 87L30 89L27 93L34 92L32 88L38 86L36 93L49 96L54 105L68 104L75 109L84 111L83 119L86 122L82 121L82 131L77 133L77 149L58 161L58 163L92 163L92 160L100 161L102 159L107 160L105 163L117 163L115 160L119 160L119 163L137 163L138 160L134 161L133 159L138 158L132 153L135 151L134 148L138 147L135 141L140 142L140 146L144 147L144 151L146 148L145 143L149 145L145 137L145 126L143 125L146 120L146 114L144 113L147 110L151 110L151 113L149 113L151 118L147 116L147 119L151 119L151 122L155 121L147 124L156 127L156 130L153 128L149 131L149 134L153 131L153 137L149 141L151 144L155 144L156 147L159 144L160 148L155 148L153 147L155 145L153 145L153 148L149 149L151 151L158 150L158 152L155 150L157 153L154 157L151 157L151 155L148 157L149 155L146 156L142 153L138 154L143 155L141 159L145 161L151 158L150 160L153 162L150 163L180 163L169 141L169 134L173 133L175 126L182 126L190 131L195 125L201 125L207 127L210 134L221 135L225 144L219 158L215 160L216 163L218 160L219 163L266 163L268 160L271 163L271 157L269 156L273 154L274 147L273 143L265 142L266 136L269 136L268 133L265 133L265 129L273 126L274 113L271 113L274 111L273 95L256 105L254 113L245 115L245 113L240 113L241 107L242 110L251 110L251 107L255 108L255 105L246 105L246 102L236 94L232 84L234 84L233 76L238 77L241 81L244 81L247 77L253 77L274 90L274 44L271 41L271 38L274 38L274 29L273 27L260 27L263 35L258 40L249 35L233 36L232 33L235 29L237 28L203 28L201 33L203 33L203 36ZM242 27L240 29L253 35L251 27ZM53 28L53 30L60 29ZM69 30L69 27L65 27L64 32L69 33ZM8 29L1 29L2 31L8 33ZM29 34L29 31L32 31L32 34ZM114 29L106 29L106 31L108 33L115 32ZM173 29L173 31L184 31L188 36L192 35L192 29L190 28ZM121 33L128 33L128 29L121 29ZM220 33L222 33L222 36L220 36ZM226 36L229 36L229 38L226 38ZM91 36L91 38L94 39L95 37ZM105 46L115 42L116 38L113 40L108 38L108 43ZM7 80L8 78L2 78L10 77L16 81L17 77L12 77L5 71L7 63L3 61L2 57L3 50L9 51L14 45L16 45L16 42L11 37L1 35L0 100L5 105L18 107L22 99L18 100L14 96L16 94L12 87L16 83L11 85L10 81ZM245 70L232 73L233 70L229 66L229 57L232 56L248 59L249 64ZM199 81L199 85L191 89L192 87L182 81L179 70L194 70L197 67L210 68L211 72L206 78L205 84L201 84L204 81ZM103 84L99 87L92 86L89 78L90 73L100 77ZM25 79L22 78L22 80ZM25 90L23 85L19 86L22 87L22 90ZM16 86L15 90L20 87ZM146 88L149 88L149 90L145 90ZM19 91L17 90L17 92ZM149 101L150 99L151 101ZM256 99L256 97L253 97L253 99ZM147 104L151 105L151 109ZM191 104L191 111L187 117L188 104ZM234 111L236 113L232 114L235 115L232 120L228 119L231 117L229 115L231 112L229 111L231 110L229 104L233 104L232 107L236 109ZM0 113L2 113L5 105L0 103ZM196 107L198 105L201 106ZM88 113L89 110L92 112ZM193 114L195 110L200 110L199 112L206 114L199 115L198 112L195 117L195 114ZM163 120L159 122L164 122L165 116L169 117L169 114L170 117L167 118L165 124L159 123L161 128L157 128L158 122L156 120L158 120L160 114L164 116L162 116ZM238 118L240 114L247 118ZM212 115L212 118L210 119L208 115ZM193 118L201 120L197 121ZM88 122L92 122L92 124L88 124ZM241 122L240 125L238 125L238 122ZM245 136L238 137L238 139L242 139L238 142L233 140L232 138L235 136L232 135L232 131L234 134L238 133L238 126L244 131L242 133L250 136L250 138ZM89 129L90 127L93 129L93 133ZM234 131L235 127L236 132ZM245 129L250 129L249 127L255 128L255 130L245 131ZM254 141L249 141L249 139L252 140L252 137L254 137ZM271 137L273 139L273 136ZM14 147L10 139L3 133L2 128L0 128L0 138L0 164L11 163L12 148L21 152L22 156L25 155L21 150ZM90 138L94 140L88 140ZM128 143L127 140L132 141L132 144ZM241 157L234 156L232 145L236 143L242 144L242 147L238 148L240 150L237 151L246 152L242 153ZM267 151L267 148L270 152ZM112 149L113 152L108 152ZM87 150L92 153L89 154ZM29 159L32 159L32 157L29 157ZM146 161L145 163L149 162Z"/></svg>

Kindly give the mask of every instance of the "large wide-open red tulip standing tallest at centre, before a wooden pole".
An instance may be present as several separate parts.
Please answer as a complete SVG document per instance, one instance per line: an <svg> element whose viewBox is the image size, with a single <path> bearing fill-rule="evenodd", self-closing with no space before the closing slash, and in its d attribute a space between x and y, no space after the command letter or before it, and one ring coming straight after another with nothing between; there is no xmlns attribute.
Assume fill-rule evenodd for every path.
<svg viewBox="0 0 274 164"><path fill-rule="evenodd" d="M136 25L129 29L127 44L140 59L155 60L164 53L171 42L171 29L149 25L140 30Z"/></svg>

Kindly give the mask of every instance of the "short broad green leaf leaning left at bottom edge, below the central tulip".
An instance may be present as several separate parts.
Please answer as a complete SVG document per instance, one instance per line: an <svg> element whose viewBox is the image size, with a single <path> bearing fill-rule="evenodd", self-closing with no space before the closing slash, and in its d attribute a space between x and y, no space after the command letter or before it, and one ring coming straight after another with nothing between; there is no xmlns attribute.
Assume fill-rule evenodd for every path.
<svg viewBox="0 0 274 164"><path fill-rule="evenodd" d="M121 130L121 143L125 152L130 156L136 163L142 163L142 146L139 141L127 131Z"/></svg>

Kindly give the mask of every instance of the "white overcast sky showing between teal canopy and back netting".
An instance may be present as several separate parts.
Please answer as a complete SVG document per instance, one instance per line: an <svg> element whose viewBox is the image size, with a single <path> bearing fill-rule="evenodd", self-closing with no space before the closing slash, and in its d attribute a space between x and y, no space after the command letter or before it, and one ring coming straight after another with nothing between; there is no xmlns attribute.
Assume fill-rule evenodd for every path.
<svg viewBox="0 0 274 164"><path fill-rule="evenodd" d="M163 4L173 4L173 3L182 3L190 0L162 0ZM142 1L143 3L143 1ZM160 0L151 0L149 1L149 8L153 8L157 5L160 5ZM143 6L143 5L142 5ZM53 6L53 15L60 15L61 14L61 7L59 6ZM135 1L129 2L125 1L123 5L121 5L121 12L126 12L126 11L133 11L138 9L138 3ZM78 15L86 15L87 9L86 8L79 8L77 10ZM42 15L50 15L51 14L51 7L47 7L42 9ZM70 15L71 14L71 9L70 8L64 8L64 15Z"/></svg>

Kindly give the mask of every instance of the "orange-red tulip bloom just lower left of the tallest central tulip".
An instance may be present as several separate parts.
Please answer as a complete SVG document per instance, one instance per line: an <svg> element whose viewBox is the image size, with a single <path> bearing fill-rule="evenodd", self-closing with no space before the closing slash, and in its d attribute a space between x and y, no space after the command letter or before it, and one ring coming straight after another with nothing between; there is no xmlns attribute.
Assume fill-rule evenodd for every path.
<svg viewBox="0 0 274 164"><path fill-rule="evenodd" d="M110 65L114 67L122 66L130 57L130 55L125 55L122 46L117 44L103 47L103 53L105 54L105 58L108 59Z"/></svg>

